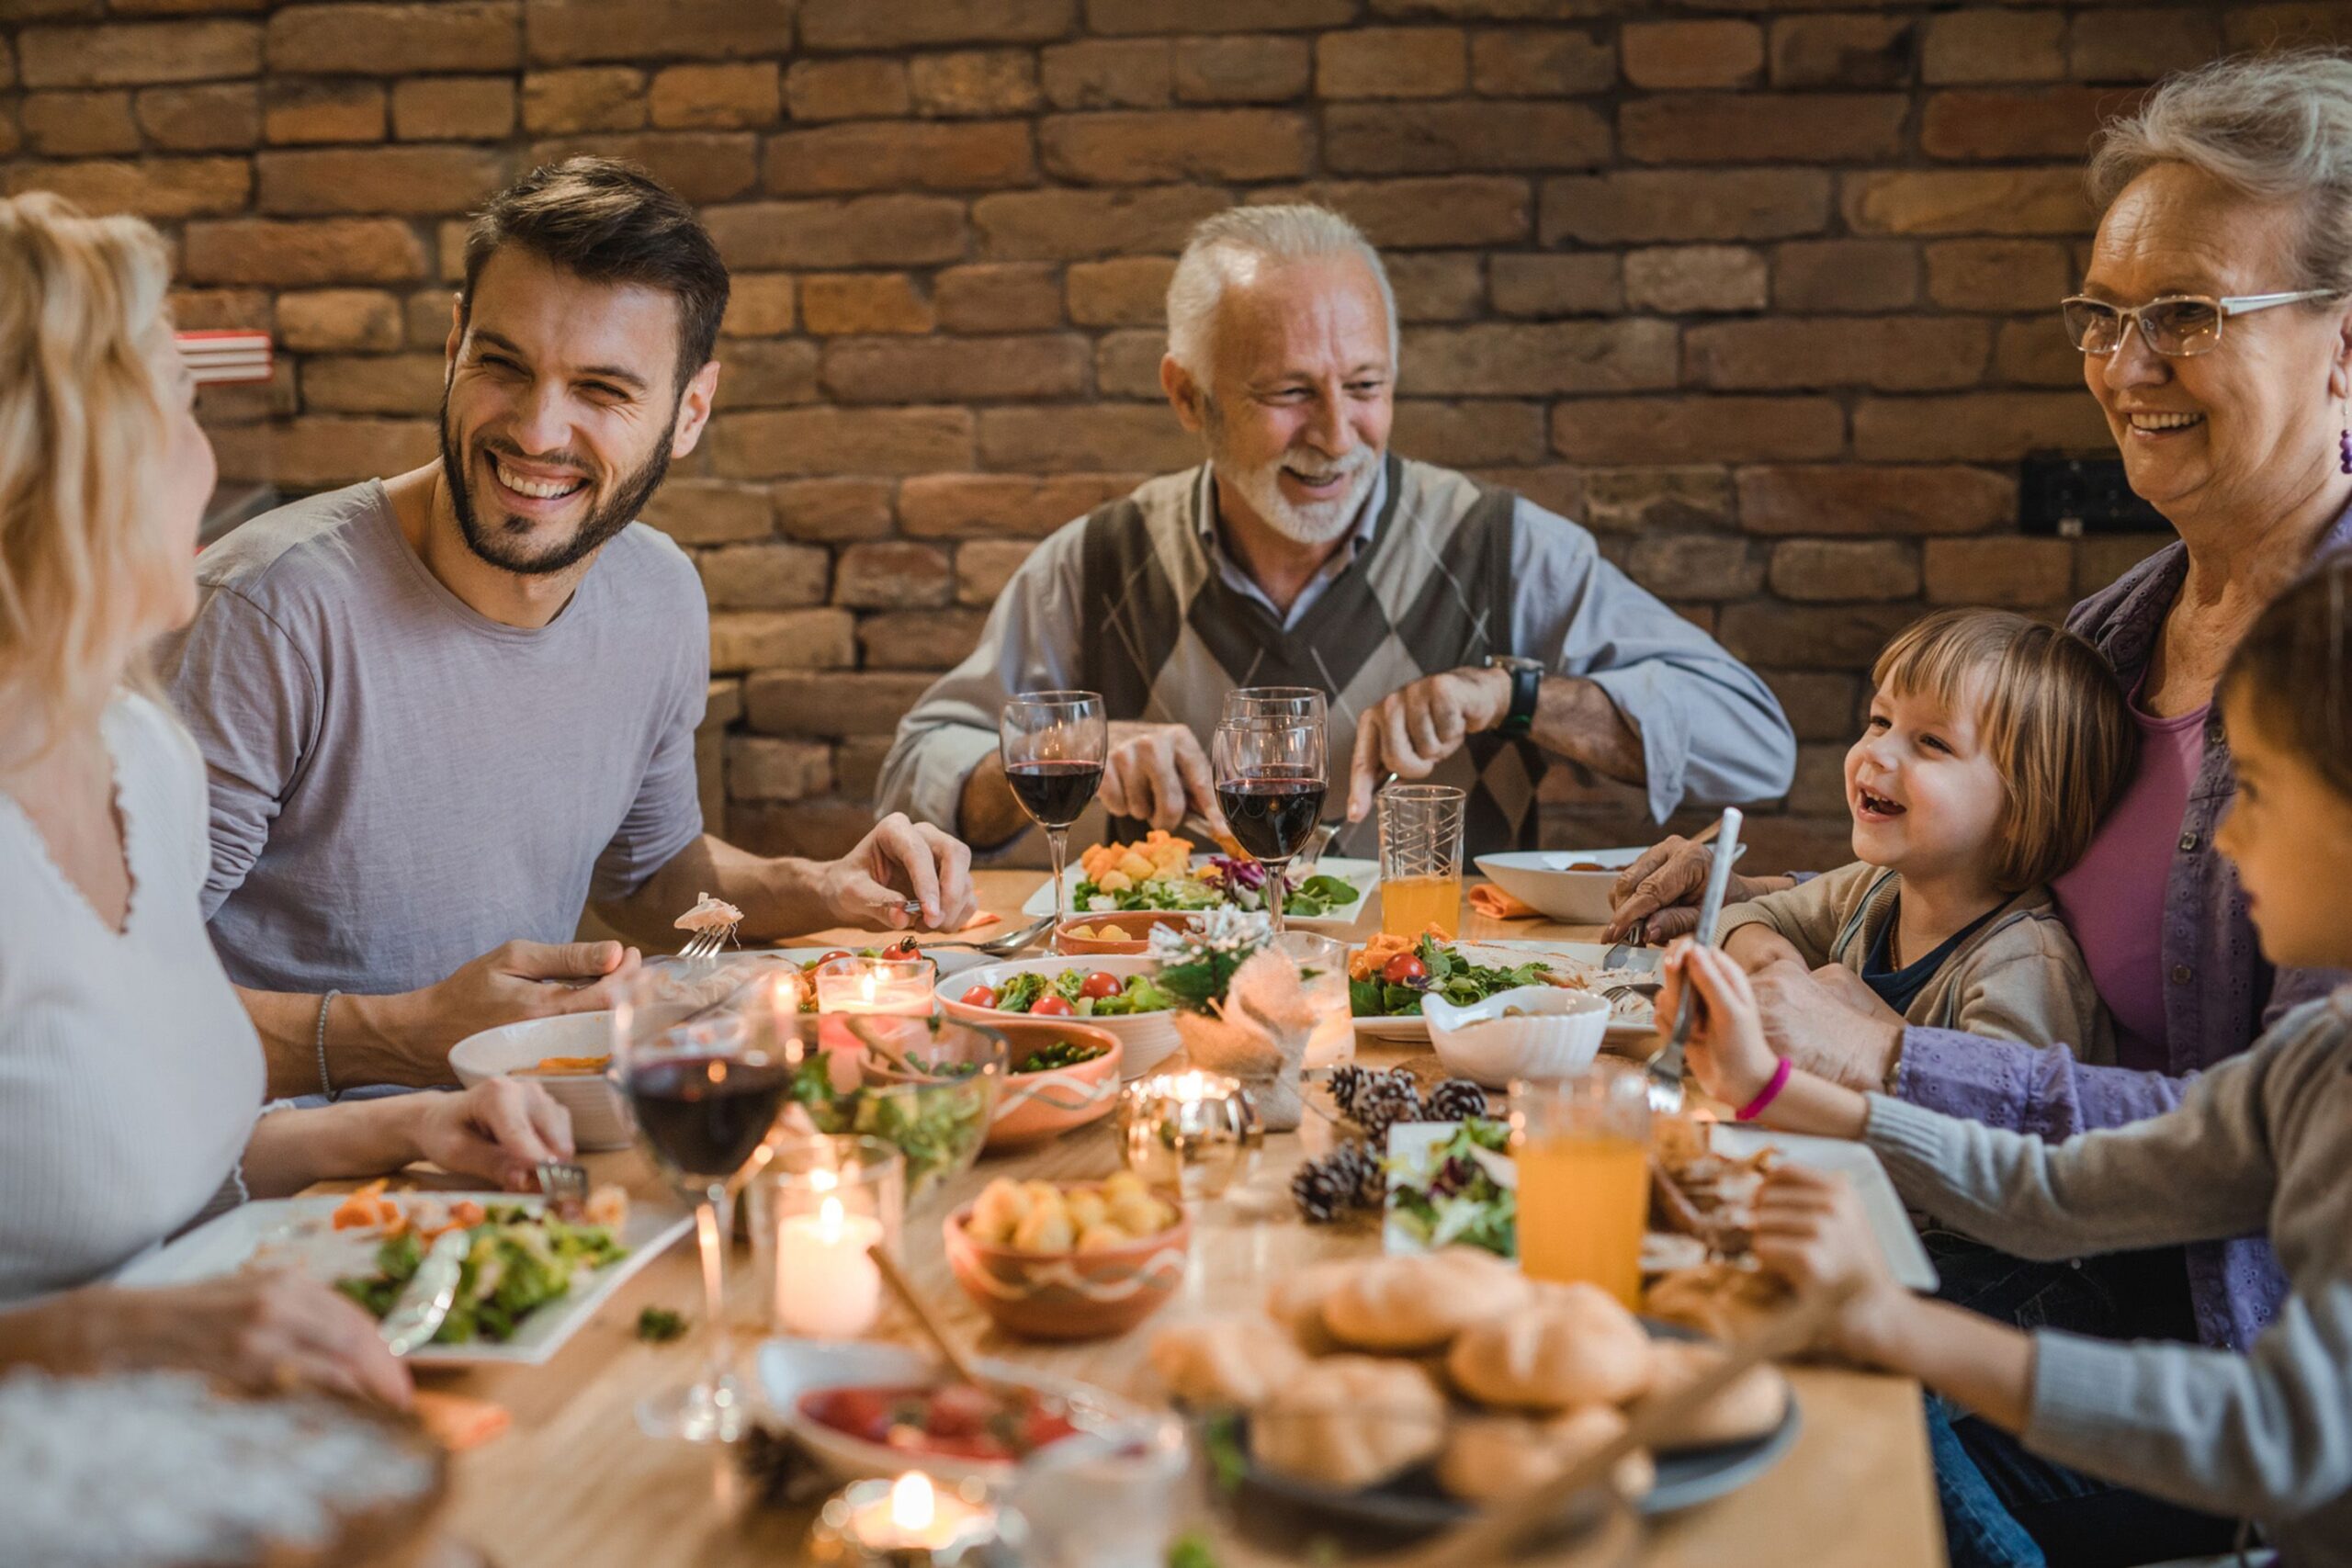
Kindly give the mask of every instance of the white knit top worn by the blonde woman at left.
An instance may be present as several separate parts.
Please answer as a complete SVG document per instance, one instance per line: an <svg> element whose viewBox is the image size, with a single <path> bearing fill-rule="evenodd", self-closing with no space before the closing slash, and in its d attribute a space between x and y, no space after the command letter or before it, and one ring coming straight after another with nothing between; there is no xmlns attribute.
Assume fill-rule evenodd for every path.
<svg viewBox="0 0 2352 1568"><path fill-rule="evenodd" d="M205 936L205 764L158 703L106 710L129 919L106 929L0 792L0 1305L111 1274L212 1204L261 1041Z"/></svg>

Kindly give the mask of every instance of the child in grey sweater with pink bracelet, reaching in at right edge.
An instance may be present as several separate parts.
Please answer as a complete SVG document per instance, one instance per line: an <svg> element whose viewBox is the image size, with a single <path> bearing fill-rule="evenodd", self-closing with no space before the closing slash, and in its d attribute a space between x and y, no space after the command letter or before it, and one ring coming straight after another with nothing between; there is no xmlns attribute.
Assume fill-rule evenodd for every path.
<svg viewBox="0 0 2352 1568"><path fill-rule="evenodd" d="M2288 588L2218 689L2237 795L2218 835L2279 966L2352 964L2352 567ZM1689 1063L1764 1126L1860 1138L1905 1201L2039 1258L2267 1232L2288 1300L2246 1354L2020 1333L1893 1284L1853 1194L1797 1168L1757 1201L1757 1258L1799 1288L1856 1281L1835 1349L1910 1373L2027 1450L2258 1521L2298 1568L2352 1563L2352 992L2286 1013L2147 1121L2060 1145L1797 1072L1740 966L1677 947Z"/></svg>

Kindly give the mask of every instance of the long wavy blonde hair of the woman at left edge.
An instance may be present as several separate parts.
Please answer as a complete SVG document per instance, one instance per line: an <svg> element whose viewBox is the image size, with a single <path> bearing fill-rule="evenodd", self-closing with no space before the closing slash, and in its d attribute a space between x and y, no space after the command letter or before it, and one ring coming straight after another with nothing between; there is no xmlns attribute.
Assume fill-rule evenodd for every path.
<svg viewBox="0 0 2352 1568"><path fill-rule="evenodd" d="M139 219L0 200L0 703L33 708L35 755L106 708L193 569L158 494L167 284Z"/></svg>

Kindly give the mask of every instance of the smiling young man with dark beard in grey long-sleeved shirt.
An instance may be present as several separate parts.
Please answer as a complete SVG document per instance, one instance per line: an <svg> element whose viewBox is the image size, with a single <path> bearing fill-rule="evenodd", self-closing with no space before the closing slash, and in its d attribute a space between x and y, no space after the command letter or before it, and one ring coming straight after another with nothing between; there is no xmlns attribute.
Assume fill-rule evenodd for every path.
<svg viewBox="0 0 2352 1568"><path fill-rule="evenodd" d="M569 943L583 905L647 938L703 891L746 936L971 914L969 856L929 825L830 863L703 832L703 588L635 515L710 418L724 310L691 207L609 160L536 169L466 237L440 461L198 562L162 670L273 1093L440 1084L473 1030L609 1006L633 954Z"/></svg>

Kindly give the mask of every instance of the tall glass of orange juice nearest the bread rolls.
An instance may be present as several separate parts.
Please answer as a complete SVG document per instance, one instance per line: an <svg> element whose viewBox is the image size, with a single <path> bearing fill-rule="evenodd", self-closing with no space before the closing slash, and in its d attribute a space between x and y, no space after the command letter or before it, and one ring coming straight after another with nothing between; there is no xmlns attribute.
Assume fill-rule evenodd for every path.
<svg viewBox="0 0 2352 1568"><path fill-rule="evenodd" d="M1649 1220L1649 1074L1597 1060L1569 1079L1510 1086L1519 1168L1519 1267L1529 1279L1595 1284L1642 1298Z"/></svg>

